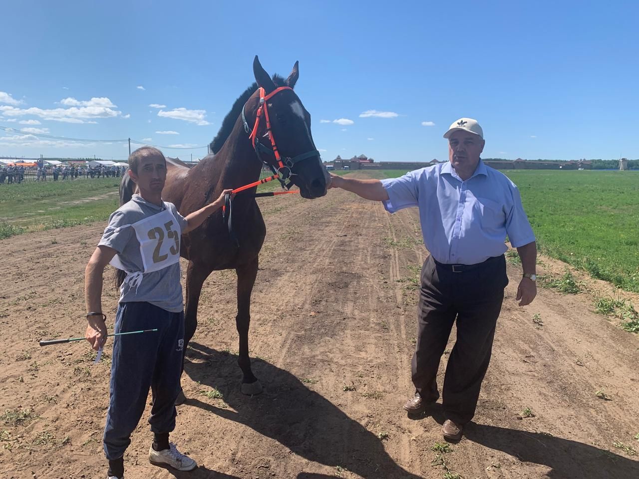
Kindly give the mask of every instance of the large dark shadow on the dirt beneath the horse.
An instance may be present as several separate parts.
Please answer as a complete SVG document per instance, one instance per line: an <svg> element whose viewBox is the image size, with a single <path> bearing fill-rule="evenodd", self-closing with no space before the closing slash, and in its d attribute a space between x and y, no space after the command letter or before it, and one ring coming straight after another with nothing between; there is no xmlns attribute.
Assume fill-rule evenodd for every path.
<svg viewBox="0 0 639 479"><path fill-rule="evenodd" d="M196 397L185 404L201 407L271 437L292 452L332 468L348 469L367 479L422 479L408 473L386 453L373 432L349 418L330 401L304 386L291 373L264 360L252 367L265 391L254 397L240 392L240 370L235 354L190 342L185 361L187 374L201 384L215 387L235 411L222 409ZM315 378L321 381L321 378ZM215 477L215 476L213 476ZM300 471L298 479L337 477Z"/></svg>

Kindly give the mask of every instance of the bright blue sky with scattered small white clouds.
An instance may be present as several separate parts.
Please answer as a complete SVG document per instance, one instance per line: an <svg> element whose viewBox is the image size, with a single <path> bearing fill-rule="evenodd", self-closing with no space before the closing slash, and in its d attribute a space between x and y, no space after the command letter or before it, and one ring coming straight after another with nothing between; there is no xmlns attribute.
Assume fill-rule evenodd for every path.
<svg viewBox="0 0 639 479"><path fill-rule="evenodd" d="M636 1L39 1L0 14L0 126L29 133L205 146L258 54L284 76L300 61L324 160L446 159L442 134L462 116L484 128L484 157L639 158L621 128L639 107ZM127 153L0 131L0 155Z"/></svg>

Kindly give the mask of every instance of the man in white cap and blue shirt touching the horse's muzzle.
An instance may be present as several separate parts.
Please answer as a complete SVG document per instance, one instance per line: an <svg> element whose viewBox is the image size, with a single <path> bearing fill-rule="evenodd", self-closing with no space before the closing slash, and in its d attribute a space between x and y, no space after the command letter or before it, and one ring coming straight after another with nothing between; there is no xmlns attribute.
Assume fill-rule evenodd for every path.
<svg viewBox="0 0 639 479"><path fill-rule="evenodd" d="M479 123L460 118L443 137L449 142L447 163L381 181L332 175L330 187L381 201L389 213L419 208L430 255L421 273L419 333L412 361L415 395L404 409L422 413L439 399L437 370L457 321L442 400L442 434L455 441L475 414L490 362L508 284L506 236L523 267L516 298L520 306L530 304L537 294L537 247L517 186L480 158L485 142Z"/></svg>

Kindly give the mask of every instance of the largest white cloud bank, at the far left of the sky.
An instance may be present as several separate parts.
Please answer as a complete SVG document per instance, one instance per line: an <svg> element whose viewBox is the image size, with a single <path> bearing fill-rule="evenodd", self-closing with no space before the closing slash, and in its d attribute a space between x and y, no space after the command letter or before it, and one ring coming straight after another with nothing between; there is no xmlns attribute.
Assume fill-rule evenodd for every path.
<svg viewBox="0 0 639 479"><path fill-rule="evenodd" d="M55 109L36 107L21 109L12 106L2 106L0 107L0 112L2 112L4 116L33 115L45 120L63 121L65 123L96 123L95 119L97 118L115 118L122 114L121 111L113 109L115 105L112 105L109 98L91 98L88 102L78 102L75 98L65 98L65 100L71 103L77 102L79 105L84 103L85 105ZM97 100L97 102L95 100ZM107 104L111 106L105 106Z"/></svg>

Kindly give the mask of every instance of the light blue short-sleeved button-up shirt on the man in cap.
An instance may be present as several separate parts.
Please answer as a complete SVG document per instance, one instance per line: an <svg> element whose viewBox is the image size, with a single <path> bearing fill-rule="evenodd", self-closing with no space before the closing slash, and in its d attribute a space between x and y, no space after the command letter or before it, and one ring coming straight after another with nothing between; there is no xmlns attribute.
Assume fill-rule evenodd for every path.
<svg viewBox="0 0 639 479"><path fill-rule="evenodd" d="M463 181L450 162L382 179L389 213L419 207L424 244L436 261L476 264L535 241L517 186L479 160Z"/></svg>

